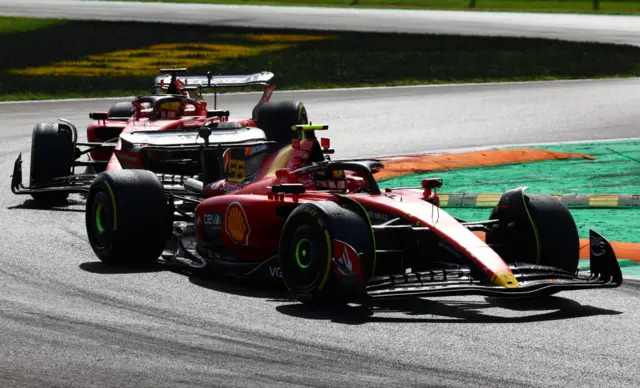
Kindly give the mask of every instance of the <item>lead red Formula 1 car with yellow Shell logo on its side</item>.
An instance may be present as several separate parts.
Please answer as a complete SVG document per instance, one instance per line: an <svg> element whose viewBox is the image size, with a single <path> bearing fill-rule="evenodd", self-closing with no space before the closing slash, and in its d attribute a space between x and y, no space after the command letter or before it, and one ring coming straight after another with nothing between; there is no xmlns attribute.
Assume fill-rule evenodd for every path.
<svg viewBox="0 0 640 388"><path fill-rule="evenodd" d="M578 272L576 225L555 198L517 188L487 221L464 222L438 207L437 178L381 190L379 161L330 160L329 141L315 137L324 128L294 126L298 136L285 147L200 148L203 159L220 156L221 181L203 172L167 189L145 170L99 174L86 207L95 254L108 264L160 260L283 280L300 301L318 304L622 283L611 246L593 231L591 273ZM200 131L205 140L210 133ZM262 149L270 146L280 148Z"/></svg>

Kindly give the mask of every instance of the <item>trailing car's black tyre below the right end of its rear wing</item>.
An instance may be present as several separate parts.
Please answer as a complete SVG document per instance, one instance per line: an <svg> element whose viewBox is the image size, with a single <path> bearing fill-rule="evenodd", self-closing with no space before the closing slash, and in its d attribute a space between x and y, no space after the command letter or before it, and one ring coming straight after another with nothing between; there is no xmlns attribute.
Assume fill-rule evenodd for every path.
<svg viewBox="0 0 640 388"><path fill-rule="evenodd" d="M258 109L257 124L258 128L264 131L267 140L288 145L296 134L291 130L291 126L309 124L309 119L302 102L267 102Z"/></svg>

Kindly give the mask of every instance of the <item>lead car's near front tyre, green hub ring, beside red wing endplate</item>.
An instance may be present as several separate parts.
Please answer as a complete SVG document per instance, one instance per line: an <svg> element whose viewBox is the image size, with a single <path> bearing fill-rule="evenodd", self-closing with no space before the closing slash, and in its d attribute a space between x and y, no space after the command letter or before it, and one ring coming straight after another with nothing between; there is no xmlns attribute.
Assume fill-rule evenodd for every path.
<svg viewBox="0 0 640 388"><path fill-rule="evenodd" d="M330 201L298 206L287 218L280 240L285 285L308 304L341 305L365 296L374 255L368 223Z"/></svg>

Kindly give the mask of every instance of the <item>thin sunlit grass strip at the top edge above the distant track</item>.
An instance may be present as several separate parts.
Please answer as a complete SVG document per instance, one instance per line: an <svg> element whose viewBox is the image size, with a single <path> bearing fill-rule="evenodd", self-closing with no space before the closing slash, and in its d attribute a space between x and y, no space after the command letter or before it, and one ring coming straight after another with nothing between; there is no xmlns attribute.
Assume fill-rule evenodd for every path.
<svg viewBox="0 0 640 388"><path fill-rule="evenodd" d="M115 1L115 0L112 0ZM208 3L243 5L321 6L350 8L405 8L431 10L469 10L506 12L558 12L597 14L640 14L640 2L634 0L601 1L594 10L593 1L582 0L126 0L164 3Z"/></svg>

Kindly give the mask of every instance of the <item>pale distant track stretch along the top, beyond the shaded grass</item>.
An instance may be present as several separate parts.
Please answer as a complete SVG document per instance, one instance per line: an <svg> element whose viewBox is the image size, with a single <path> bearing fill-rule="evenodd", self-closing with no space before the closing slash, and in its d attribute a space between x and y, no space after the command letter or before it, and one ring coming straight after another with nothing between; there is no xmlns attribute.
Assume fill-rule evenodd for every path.
<svg viewBox="0 0 640 388"><path fill-rule="evenodd" d="M528 36L640 44L636 16L2 0L0 15L169 21L237 27Z"/></svg>

